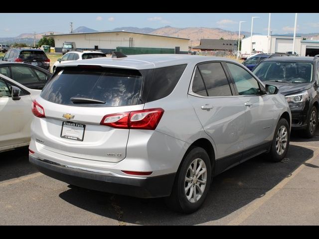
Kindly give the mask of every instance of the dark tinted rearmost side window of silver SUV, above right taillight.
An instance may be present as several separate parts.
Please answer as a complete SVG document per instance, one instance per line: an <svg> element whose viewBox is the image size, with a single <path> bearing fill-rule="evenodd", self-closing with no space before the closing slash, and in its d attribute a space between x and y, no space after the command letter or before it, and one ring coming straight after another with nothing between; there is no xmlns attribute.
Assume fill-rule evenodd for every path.
<svg viewBox="0 0 319 239"><path fill-rule="evenodd" d="M175 88L187 64L157 68L147 102L156 101L168 96Z"/></svg>

